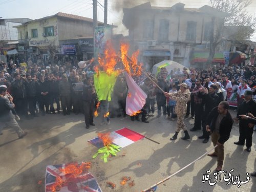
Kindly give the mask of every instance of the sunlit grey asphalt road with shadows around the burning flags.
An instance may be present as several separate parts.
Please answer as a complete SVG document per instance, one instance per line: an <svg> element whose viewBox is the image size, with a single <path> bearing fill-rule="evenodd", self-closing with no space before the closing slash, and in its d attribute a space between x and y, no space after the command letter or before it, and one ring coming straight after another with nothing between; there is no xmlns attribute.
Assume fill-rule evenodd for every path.
<svg viewBox="0 0 256 192"><path fill-rule="evenodd" d="M231 111L234 116L236 112ZM189 141L181 140L183 133L176 141L169 138L174 134L176 122L169 121L163 116L151 117L150 123L131 121L130 117L113 118L110 125L99 125L99 118L95 118L95 127L84 128L83 115L63 116L61 114L36 117L24 120L20 126L28 131L24 139L17 139L16 133L6 128L0 136L0 191L27 192L44 191L44 180L47 165L69 162L90 161L90 172L95 176L102 191L142 191L156 182L172 175L180 168L194 161L209 151L211 142L202 143L197 137L202 131L190 132ZM186 119L186 125L193 127L193 119ZM145 135L160 144L143 139L121 149L118 156L109 158L104 163L100 158L92 159L97 148L88 142L99 132L112 132L127 127ZM255 133L255 132L254 132ZM238 141L238 125L234 124L230 139L225 143L225 159L223 169L227 173L231 169L234 177L240 175L241 181L246 181L246 173L256 170L256 138L250 153L245 146L234 145ZM215 185L209 180L202 182L203 174L209 174L214 182L214 169L217 159L204 156L180 173L160 184L157 191L256 191L256 178L250 177L249 182L241 185L227 185L223 178ZM121 186L123 176L130 176L135 186ZM222 174L222 177L224 174ZM42 184L38 184L42 181ZM106 187L106 181L116 184L115 189Z"/></svg>

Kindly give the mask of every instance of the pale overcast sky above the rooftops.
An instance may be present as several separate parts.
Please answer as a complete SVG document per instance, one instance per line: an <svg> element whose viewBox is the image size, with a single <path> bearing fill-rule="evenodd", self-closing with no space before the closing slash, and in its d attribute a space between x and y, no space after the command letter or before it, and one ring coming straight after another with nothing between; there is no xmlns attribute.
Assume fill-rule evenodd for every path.
<svg viewBox="0 0 256 192"><path fill-rule="evenodd" d="M120 24L122 16L115 12L113 6L115 2L122 0L109 0L108 4L108 23ZM147 0L126 0L131 4L141 4ZM104 5L104 0L98 0L99 4ZM172 6L181 2L185 7L199 8L208 5L208 0L152 0L153 6ZM98 20L103 22L103 8L98 4ZM84 17L93 18L92 0L0 0L0 17L3 18L31 18L37 19L45 16L54 15L57 12L70 13ZM255 14L256 0L247 9L250 14ZM253 38L256 41L256 37Z"/></svg>

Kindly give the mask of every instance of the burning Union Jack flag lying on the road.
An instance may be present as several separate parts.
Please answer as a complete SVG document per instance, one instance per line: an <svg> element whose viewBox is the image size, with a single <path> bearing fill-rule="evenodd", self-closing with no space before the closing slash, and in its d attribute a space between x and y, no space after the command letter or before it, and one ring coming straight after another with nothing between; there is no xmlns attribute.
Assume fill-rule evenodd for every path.
<svg viewBox="0 0 256 192"><path fill-rule="evenodd" d="M46 167L45 192L53 192L53 186L56 184L57 177L61 178L61 188L59 192L102 192L98 182L90 173L84 173L78 177L70 177L71 174L65 174L60 171L66 164L48 165ZM67 180L67 182L65 182Z"/></svg>

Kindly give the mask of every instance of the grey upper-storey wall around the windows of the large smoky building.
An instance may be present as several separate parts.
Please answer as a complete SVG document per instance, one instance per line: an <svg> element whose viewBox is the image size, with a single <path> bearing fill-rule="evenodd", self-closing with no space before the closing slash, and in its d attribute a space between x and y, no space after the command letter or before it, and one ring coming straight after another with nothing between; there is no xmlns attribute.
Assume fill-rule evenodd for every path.
<svg viewBox="0 0 256 192"><path fill-rule="evenodd" d="M132 31L134 32L134 40L147 40L143 37L144 31L144 22L147 19L154 20L154 38L158 40L159 38L159 25L160 19L169 20L169 34L168 40L166 42L187 42L187 43L205 43L204 41L204 30L205 23L210 22L210 15L207 14L199 14L194 12L182 12L180 15L173 12L168 11L143 11L143 14L140 14L136 17L137 25ZM187 22L193 21L197 22L197 30L196 30L196 40L186 40L186 32L187 32ZM180 26L179 26L180 22Z"/></svg>

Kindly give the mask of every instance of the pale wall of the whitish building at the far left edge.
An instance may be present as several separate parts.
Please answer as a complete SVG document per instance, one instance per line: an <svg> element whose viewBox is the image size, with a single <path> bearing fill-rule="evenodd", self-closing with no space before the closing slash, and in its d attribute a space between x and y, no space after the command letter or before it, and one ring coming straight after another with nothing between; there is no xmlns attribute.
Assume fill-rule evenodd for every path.
<svg viewBox="0 0 256 192"><path fill-rule="evenodd" d="M3 20L0 24L0 40L18 40L18 30L13 28L18 25L22 24Z"/></svg>

